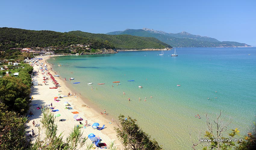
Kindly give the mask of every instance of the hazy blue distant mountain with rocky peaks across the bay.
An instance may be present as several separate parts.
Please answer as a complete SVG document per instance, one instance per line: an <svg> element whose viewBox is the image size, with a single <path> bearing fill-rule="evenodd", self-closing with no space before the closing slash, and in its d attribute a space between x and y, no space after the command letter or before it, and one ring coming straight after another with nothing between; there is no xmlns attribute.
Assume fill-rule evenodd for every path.
<svg viewBox="0 0 256 150"><path fill-rule="evenodd" d="M152 37L176 47L235 47L250 46L245 43L218 41L215 38L203 37L200 35L192 35L188 32L167 33L164 31L156 31L153 29L126 29L124 31L109 32L107 35L134 35L141 37Z"/></svg>

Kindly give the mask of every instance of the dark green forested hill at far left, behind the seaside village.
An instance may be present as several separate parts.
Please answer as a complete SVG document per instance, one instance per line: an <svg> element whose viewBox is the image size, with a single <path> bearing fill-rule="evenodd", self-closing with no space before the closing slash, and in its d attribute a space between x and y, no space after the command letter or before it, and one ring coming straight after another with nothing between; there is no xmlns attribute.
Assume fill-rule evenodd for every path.
<svg viewBox="0 0 256 150"><path fill-rule="evenodd" d="M25 30L16 28L0 28L0 49L24 47L65 47L71 44L92 44L92 48L114 48L113 45L92 38L84 38L77 35L48 31Z"/></svg>

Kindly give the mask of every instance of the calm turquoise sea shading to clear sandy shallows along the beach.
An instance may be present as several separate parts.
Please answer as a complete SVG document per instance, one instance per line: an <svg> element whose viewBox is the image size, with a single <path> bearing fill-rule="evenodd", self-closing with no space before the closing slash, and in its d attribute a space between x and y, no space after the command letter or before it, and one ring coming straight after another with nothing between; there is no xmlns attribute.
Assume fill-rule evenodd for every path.
<svg viewBox="0 0 256 150"><path fill-rule="evenodd" d="M192 149L192 141L207 129L206 113L214 119L220 110L232 118L229 129L238 128L241 137L246 135L256 115L256 48L176 51L177 57L170 56L174 50L164 55L158 55L161 51L129 51L58 56L48 63L62 79L67 78L70 88L115 119L120 113L137 119L143 131L166 150ZM70 82L70 77L75 79ZM195 118L197 114L201 119Z"/></svg>

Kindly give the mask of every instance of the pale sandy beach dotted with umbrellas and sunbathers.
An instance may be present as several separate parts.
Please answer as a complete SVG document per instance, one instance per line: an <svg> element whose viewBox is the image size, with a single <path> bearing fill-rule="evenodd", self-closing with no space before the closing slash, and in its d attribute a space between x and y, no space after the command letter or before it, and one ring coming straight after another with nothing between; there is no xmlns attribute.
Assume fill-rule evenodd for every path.
<svg viewBox="0 0 256 150"><path fill-rule="evenodd" d="M46 63L46 60L50 56L43 56L43 60L39 61L40 63ZM47 64L47 63L46 63ZM100 112L104 112L104 110L100 110L93 104L91 104L88 100L80 96L79 93L73 94L73 96L67 96L68 93L70 94L75 93L75 91L71 91L70 88L68 88L65 85L65 81L58 76L55 76L55 79L58 81L58 83L61 85L57 89L50 89L50 87L54 87L54 84L50 78L50 76L47 73L43 73L39 68L39 65L33 65L35 71L38 72L38 76L34 77L34 79L37 79L39 84L33 86L32 88L32 94L33 97L31 107L29 112L31 111L34 116L28 118L30 120L29 123L27 123L28 128L27 131L31 133L31 130L33 129L35 131L35 135L38 135L38 128L34 127L32 122L35 121L35 125L39 124L39 126L42 126L42 123L40 122L40 118L42 117L42 111L41 109L37 109L39 106L46 106L54 107L53 110L58 110L56 112L51 112L53 114L60 114L61 116L56 117L56 123L58 125L58 134L63 132L63 137L66 139L67 135L69 135L70 131L74 128L76 125L80 125L79 121L75 121L73 118L75 115L78 115L78 117L81 117L83 119L82 124L86 124L86 120L88 122L88 125L92 125L95 122L99 123L99 127L102 127L102 125L105 125L105 128L101 131L93 129L92 126L87 126L86 128L81 128L81 131L83 132L82 137L87 137L88 134L95 134L96 136L100 137L102 139L101 143L106 143L107 146L110 144L110 142L115 141L115 146L118 149L123 149L122 144L116 137L116 132L114 131L114 127L116 127L116 122L114 119L114 122L112 122L112 117L110 114L108 114L108 110L106 110L107 115L104 114L101 115ZM50 70L51 66L50 64L47 64L47 68L49 72L52 75L55 75L53 71ZM45 83L43 83L43 77L49 78ZM69 80L69 79L67 79ZM55 101L54 97L59 97L59 101ZM65 109L66 106L64 105L65 102L68 102L70 106L72 107L71 110ZM49 106L50 105L50 106ZM78 112L76 114L73 114L72 112ZM60 119L66 119L65 121L59 121ZM41 134L43 136L43 134ZM35 137L31 138L32 142L35 140ZM88 142L91 142L91 140L88 139ZM97 149L97 148L96 148Z"/></svg>

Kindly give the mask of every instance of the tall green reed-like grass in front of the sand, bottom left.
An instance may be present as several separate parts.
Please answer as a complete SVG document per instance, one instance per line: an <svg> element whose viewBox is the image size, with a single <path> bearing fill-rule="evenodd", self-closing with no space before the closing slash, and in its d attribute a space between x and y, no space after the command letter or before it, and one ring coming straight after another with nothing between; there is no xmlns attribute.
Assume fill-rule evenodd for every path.
<svg viewBox="0 0 256 150"><path fill-rule="evenodd" d="M82 138L83 133L81 133L79 127L75 126L66 141L64 141L63 132L57 136L56 117L47 109L42 109L42 113L43 115L40 119L42 128L38 128L39 133L35 137L36 142L30 147L31 150L77 150L84 146L87 138ZM45 138L42 138L44 136Z"/></svg>

